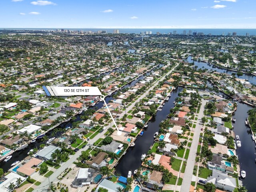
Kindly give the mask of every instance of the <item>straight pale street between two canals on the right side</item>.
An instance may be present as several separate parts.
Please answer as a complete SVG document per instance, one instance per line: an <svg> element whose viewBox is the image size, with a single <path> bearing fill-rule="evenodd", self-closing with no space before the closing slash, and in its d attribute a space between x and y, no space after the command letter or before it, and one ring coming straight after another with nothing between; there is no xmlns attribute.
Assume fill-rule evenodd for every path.
<svg viewBox="0 0 256 192"><path fill-rule="evenodd" d="M200 125L199 123L202 123L201 118L204 116L204 106L206 102L207 102L206 100L204 99L202 100L202 105L198 114L196 128L194 129L194 137L190 147L190 153L187 160L186 170L184 173L184 178L183 178L182 186L180 189L180 191L182 192L189 192L190 190L190 185L191 185L192 176L193 176L193 169L194 169L194 164L196 159L197 146L199 142L201 128L203 128L203 126Z"/></svg>

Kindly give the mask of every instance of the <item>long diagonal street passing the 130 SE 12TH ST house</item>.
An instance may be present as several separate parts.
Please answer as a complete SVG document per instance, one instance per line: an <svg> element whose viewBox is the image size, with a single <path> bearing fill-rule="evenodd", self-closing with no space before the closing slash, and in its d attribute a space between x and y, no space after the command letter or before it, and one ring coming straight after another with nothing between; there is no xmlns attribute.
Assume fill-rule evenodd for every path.
<svg viewBox="0 0 256 192"><path fill-rule="evenodd" d="M178 66L178 64L176 64L176 66ZM172 68L172 70L170 70L166 75L170 74L174 68L176 67L174 66ZM159 81L164 80L165 76L163 76ZM142 94L142 96L140 96L140 98L138 98L138 100L141 100L142 98L146 97L146 95L150 92L150 90L153 90L157 85L158 82L156 81L144 94ZM126 111L131 110L134 106L135 106L136 102L132 103L132 105L130 105L128 108L126 108ZM122 112L122 114L120 114L120 118L122 118L124 116L125 112ZM104 135L105 132L107 132L108 128L110 127L110 125L106 126L106 130L104 130L102 133L99 133L98 135L96 135L93 139L90 140L90 144L93 144L94 142L96 142L100 137L102 137ZM199 137L198 137L199 139ZM49 181L53 182L54 180L57 180L57 177L66 169L68 168L74 161L76 161L76 159L81 155L82 151L86 151L89 148L89 146L86 146L84 149L79 150L78 152L76 152L76 154L74 156L71 156L70 159L63 163L61 165L60 168L58 168L50 177L49 180L46 179L44 180L44 182L42 182L40 184L40 186L38 186L38 188L36 188L34 191L35 192L42 192L44 190L47 190L49 187Z"/></svg>

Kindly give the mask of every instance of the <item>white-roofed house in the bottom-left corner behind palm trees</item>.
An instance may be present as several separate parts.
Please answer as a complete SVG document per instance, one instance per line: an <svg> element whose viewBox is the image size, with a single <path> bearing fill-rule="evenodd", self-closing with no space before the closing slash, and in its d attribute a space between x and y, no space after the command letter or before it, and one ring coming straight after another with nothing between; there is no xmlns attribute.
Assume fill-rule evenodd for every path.
<svg viewBox="0 0 256 192"><path fill-rule="evenodd" d="M18 186L16 182L18 178L21 178L22 183L26 180L25 177L20 176L14 172L10 172L9 174L2 176L1 182L0 182L0 191L10 192L10 189L8 188L10 186L10 183L13 183L15 186Z"/></svg>

